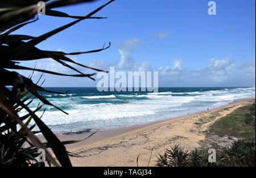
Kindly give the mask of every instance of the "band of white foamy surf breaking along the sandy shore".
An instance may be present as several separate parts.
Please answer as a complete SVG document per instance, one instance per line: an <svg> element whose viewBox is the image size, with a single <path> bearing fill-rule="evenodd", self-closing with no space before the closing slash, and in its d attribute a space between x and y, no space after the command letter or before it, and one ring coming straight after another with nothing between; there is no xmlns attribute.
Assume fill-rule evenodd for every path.
<svg viewBox="0 0 256 178"><path fill-rule="evenodd" d="M176 95L180 94L180 95ZM242 99L255 95L255 87L250 88L225 88L216 91L195 92L159 92L148 94L130 95L98 95L98 96L74 96L51 98L51 102L57 106L70 107L65 115L53 109L45 112L42 120L49 125L53 132L61 130L82 130L84 128L109 129L121 126L145 124L151 121L163 120L170 117L187 115L187 113L199 112L207 108L214 108L230 103L236 99ZM118 98L119 97L119 98ZM121 98L123 97L123 99ZM134 99L138 98L138 100ZM89 103L84 99L97 99L105 103ZM108 103L112 101L112 103ZM113 101L125 100L125 103L117 104ZM79 101L86 101L80 104ZM90 101L90 100L89 100ZM92 100L94 101L94 100ZM76 103L78 102L78 103ZM34 105L34 109L36 104ZM52 108L48 107L47 108ZM24 110L20 116L26 114ZM40 116L42 111L37 112Z"/></svg>

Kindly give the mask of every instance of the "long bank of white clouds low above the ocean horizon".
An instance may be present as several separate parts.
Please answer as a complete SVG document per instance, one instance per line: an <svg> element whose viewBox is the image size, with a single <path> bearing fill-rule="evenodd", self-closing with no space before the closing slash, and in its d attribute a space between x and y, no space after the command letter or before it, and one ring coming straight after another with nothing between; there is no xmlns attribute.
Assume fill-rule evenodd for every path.
<svg viewBox="0 0 256 178"><path fill-rule="evenodd" d="M143 41L131 38L123 41L118 52L120 59L115 62L105 60L90 61L86 65L96 69L109 70L110 66L115 69L130 71L159 71L159 86L163 87L213 87L213 86L255 86L255 61L237 65L230 57L224 59L212 58L208 65L200 69L186 69L181 59L172 60L172 65L162 66L159 69L152 69L151 63L147 61L135 61L132 57L133 52L138 46L143 45ZM76 57L72 60L77 61ZM140 59L136 59L140 60ZM77 69L85 74L94 73L93 70L76 66ZM26 65L25 65L26 66ZM65 74L77 74L76 71L60 65L56 61L46 58L36 62L36 68L56 71ZM19 70L20 72L20 70ZM27 74L27 71L22 71ZM52 77L47 75L45 86L95 86L96 82L90 82L84 78ZM72 81L70 84L65 81Z"/></svg>

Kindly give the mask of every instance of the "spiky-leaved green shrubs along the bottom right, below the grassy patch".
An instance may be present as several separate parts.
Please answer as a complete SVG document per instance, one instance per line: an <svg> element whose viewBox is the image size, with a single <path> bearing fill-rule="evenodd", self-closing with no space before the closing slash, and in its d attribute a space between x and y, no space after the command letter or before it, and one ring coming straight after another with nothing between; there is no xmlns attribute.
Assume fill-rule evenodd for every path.
<svg viewBox="0 0 256 178"><path fill-rule="evenodd" d="M254 166L255 167L255 137L239 139L229 147L216 150L216 162L208 161L208 150L187 151L179 145L166 149L158 156L158 167L221 167L221 166Z"/></svg>

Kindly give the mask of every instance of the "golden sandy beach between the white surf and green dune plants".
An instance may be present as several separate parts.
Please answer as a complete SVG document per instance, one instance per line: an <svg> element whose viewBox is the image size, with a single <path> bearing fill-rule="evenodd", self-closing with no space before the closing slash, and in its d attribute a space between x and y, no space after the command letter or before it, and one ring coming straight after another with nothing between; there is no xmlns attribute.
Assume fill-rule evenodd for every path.
<svg viewBox="0 0 256 178"><path fill-rule="evenodd" d="M71 157L73 166L155 166L156 155L165 148L179 144L185 149L200 148L209 125L235 109L251 103L255 97L236 101L223 107L210 109L170 120L133 128L102 131L86 141L68 145L67 150L82 156ZM198 124L200 123L200 124ZM81 139L91 133L59 135L61 140Z"/></svg>

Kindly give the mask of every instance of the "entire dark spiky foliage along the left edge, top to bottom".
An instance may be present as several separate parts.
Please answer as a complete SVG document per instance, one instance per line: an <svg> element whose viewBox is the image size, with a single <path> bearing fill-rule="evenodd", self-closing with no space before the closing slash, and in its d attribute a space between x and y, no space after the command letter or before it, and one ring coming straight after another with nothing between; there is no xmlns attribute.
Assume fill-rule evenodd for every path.
<svg viewBox="0 0 256 178"><path fill-rule="evenodd" d="M94 53L108 49L108 46L96 50L89 50L85 52L73 52L64 53L59 51L42 50L36 47L42 41L73 26L74 24L84 19L102 19L102 17L93 16L96 12L100 11L109 3L98 7L98 9L90 12L85 16L72 16L64 12L52 10L56 7L63 7L73 5L81 2L92 2L94 0L53 0L44 1L45 3L45 15L56 16L62 18L75 19L73 22L65 24L59 28L53 29L50 32L44 33L38 37L30 35L13 34L17 29L26 26L27 24L34 23L39 20L35 18L38 14L38 1L37 0L26 0L26 1L0 1L0 165L1 166L44 166L44 164L32 163L31 160L36 162L35 157L38 156L36 151L38 149L44 149L46 151L46 160L49 165L54 166L72 166L68 152L65 149L64 144L71 142L60 142L55 134L52 133L51 129L36 115L35 111L31 111L29 108L29 102L25 103L30 97L38 98L42 104L51 105L60 111L68 114L61 110L59 107L53 105L46 98L39 94L40 92L53 92L57 94L65 94L66 92L48 91L41 87L38 83L34 83L30 77L24 77L23 75L11 70L27 70L27 71L38 71L41 73L47 73L58 76L69 76L69 77L87 77L93 79L92 74L84 74L73 65L85 67L94 71L103 71L100 69L94 69L92 67L77 63L68 55L76 55L83 53ZM32 19L32 20L31 20ZM22 66L19 63L22 61L35 61L44 58L51 58L53 61L59 62L64 67L68 67L77 74L63 74L49 70L30 68ZM67 63L68 62L68 63ZM41 76L42 77L42 76ZM94 79L93 79L94 80ZM11 88L7 88L11 86ZM40 108L38 106L38 108ZM24 109L28 112L28 115L20 117L18 112L20 109ZM32 131L33 126L28 126L28 123L33 120L35 125L39 128L38 132L42 133L46 138L47 143L42 143L35 136L36 133ZM23 123L26 121L25 123ZM28 122L29 121L29 122ZM21 130L18 130L18 125ZM28 141L29 140L29 141ZM28 143L29 147L23 148L24 143ZM74 141L76 142L76 141ZM46 150L49 147L53 151L56 159Z"/></svg>

